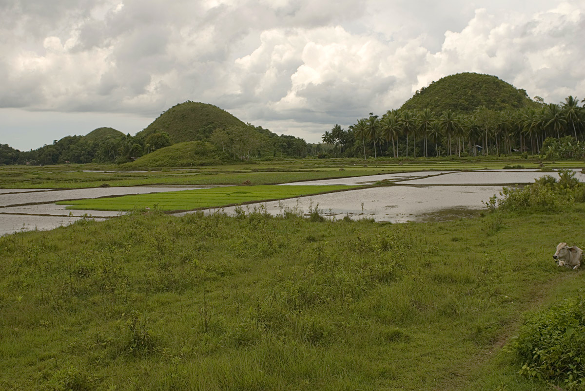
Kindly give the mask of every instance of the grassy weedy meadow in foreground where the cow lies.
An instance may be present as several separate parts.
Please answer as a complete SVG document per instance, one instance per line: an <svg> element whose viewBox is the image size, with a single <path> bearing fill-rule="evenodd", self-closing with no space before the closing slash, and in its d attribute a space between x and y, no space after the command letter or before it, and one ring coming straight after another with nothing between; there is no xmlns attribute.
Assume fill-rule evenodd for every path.
<svg viewBox="0 0 585 391"><path fill-rule="evenodd" d="M448 223L133 213L0 238L0 389L548 390L501 351L574 295L585 210Z"/></svg>

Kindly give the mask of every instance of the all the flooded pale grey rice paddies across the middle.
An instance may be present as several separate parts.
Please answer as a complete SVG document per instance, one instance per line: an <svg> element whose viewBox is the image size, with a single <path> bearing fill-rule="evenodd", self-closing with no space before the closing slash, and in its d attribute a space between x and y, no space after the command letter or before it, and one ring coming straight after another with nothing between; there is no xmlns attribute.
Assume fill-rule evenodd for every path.
<svg viewBox="0 0 585 391"><path fill-rule="evenodd" d="M585 182L585 175L576 170ZM543 175L558 178L556 172L522 170L483 170L471 172L420 171L326 179L285 184L294 185L371 185L384 181L390 186L357 189L246 205L245 210L265 209L271 214L286 210L307 214L315 207L327 217L371 218L378 222L437 221L472 216L483 209L483 201L498 194L503 186L529 184ZM97 220L119 216L119 212L66 210L59 200L99 198L113 195L181 191L201 187L135 186L92 189L0 189L0 236L21 230L49 230L71 224L88 215ZM207 213L235 213L235 207L209 209ZM186 212L190 213L190 212ZM182 216L185 213L177 213Z"/></svg>

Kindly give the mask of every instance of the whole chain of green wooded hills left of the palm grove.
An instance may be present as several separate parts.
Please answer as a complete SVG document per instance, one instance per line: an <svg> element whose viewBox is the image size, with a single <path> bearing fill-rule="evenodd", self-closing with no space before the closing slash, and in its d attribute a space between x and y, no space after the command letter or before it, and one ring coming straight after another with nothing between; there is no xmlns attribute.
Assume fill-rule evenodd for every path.
<svg viewBox="0 0 585 391"><path fill-rule="evenodd" d="M179 167L183 164L222 164L259 158L306 157L321 152L298 137L281 135L245 124L225 110L205 103L185 102L168 109L142 132L124 135L112 128L95 129L87 136L67 136L37 150L0 149L0 164L125 163L173 143L212 142L222 153L209 150L203 159L170 161L158 154L140 167ZM201 144L201 145L203 145ZM194 144L192 144L194 145ZM173 154L172 150L167 150ZM214 156L215 155L215 156ZM176 156L176 155L174 155ZM163 165L157 165L163 164Z"/></svg>

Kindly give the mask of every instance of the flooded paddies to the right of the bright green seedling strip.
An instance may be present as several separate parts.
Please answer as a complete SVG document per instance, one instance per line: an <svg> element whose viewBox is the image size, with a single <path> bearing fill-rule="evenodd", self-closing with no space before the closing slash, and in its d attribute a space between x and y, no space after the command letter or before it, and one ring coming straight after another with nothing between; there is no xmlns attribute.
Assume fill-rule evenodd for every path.
<svg viewBox="0 0 585 391"><path fill-rule="evenodd" d="M576 178L585 182L580 169ZM326 181L295 182L287 185L367 185L387 179L394 186L329 193L294 199L255 203L243 206L252 211L262 207L277 215L285 210L308 214L318 207L325 217L342 219L371 218L377 222L404 223L428 222L469 217L485 209L484 201L499 195L503 186L513 187L534 183L535 179L556 172L539 172L536 169L484 170L470 172L428 171L402 174L369 175L359 178L328 179ZM211 209L235 213L235 207Z"/></svg>

